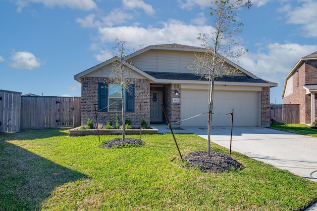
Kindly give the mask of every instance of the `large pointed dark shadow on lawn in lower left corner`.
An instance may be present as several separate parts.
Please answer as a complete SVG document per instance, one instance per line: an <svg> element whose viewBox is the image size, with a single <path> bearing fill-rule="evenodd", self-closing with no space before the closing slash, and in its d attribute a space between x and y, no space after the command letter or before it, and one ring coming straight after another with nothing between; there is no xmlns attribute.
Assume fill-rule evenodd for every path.
<svg viewBox="0 0 317 211"><path fill-rule="evenodd" d="M85 178L81 172L0 140L0 210L39 210L56 187Z"/></svg>

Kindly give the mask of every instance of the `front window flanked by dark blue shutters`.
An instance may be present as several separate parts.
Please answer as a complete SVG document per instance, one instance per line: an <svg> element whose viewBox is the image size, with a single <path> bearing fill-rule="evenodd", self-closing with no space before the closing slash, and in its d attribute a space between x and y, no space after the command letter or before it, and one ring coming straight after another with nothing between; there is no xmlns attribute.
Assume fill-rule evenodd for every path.
<svg viewBox="0 0 317 211"><path fill-rule="evenodd" d="M121 87L114 84L98 84L98 108L103 112L121 112ZM134 112L134 84L125 92L125 111Z"/></svg>

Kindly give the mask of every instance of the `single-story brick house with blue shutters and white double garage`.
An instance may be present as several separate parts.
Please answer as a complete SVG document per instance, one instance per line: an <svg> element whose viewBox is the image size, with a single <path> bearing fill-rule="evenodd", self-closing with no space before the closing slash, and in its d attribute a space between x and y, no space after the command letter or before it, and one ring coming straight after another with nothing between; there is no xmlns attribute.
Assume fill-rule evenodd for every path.
<svg viewBox="0 0 317 211"><path fill-rule="evenodd" d="M194 53L204 52L201 47L160 44L128 55L130 62L125 65L134 78L131 92L126 95L126 114L131 124L138 125L140 118L148 124L166 123L162 103L171 123L202 114L177 125L207 127L208 81L187 68L195 60ZM95 117L94 106L102 110L110 105L98 112L98 121L103 124L107 120L114 123L115 113L121 113L120 106L111 105L118 97L110 87L113 61L114 58L109 59L74 76L82 84L82 125L87 118ZM235 127L269 127L269 89L277 84L264 81L229 60L227 65L240 72L215 79L211 126L230 127L231 117L225 114L234 109Z"/></svg>

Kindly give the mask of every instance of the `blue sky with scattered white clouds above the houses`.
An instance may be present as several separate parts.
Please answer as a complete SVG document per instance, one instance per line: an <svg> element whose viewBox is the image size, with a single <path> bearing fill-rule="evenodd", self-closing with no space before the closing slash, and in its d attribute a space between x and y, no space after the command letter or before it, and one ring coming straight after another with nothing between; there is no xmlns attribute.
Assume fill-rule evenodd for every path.
<svg viewBox="0 0 317 211"><path fill-rule="evenodd" d="M0 0L0 89L44 96L80 96L74 75L109 59L116 38L133 49L153 44L200 46L211 31L211 0ZM317 51L316 0L253 0L237 11L239 65L278 83Z"/></svg>

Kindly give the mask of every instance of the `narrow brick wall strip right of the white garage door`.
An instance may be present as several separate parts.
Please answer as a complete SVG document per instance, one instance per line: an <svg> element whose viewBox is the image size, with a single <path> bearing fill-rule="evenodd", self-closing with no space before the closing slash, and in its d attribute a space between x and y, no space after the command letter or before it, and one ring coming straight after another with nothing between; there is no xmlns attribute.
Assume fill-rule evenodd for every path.
<svg viewBox="0 0 317 211"><path fill-rule="evenodd" d="M261 91L261 126L270 125L269 87L262 87Z"/></svg>

